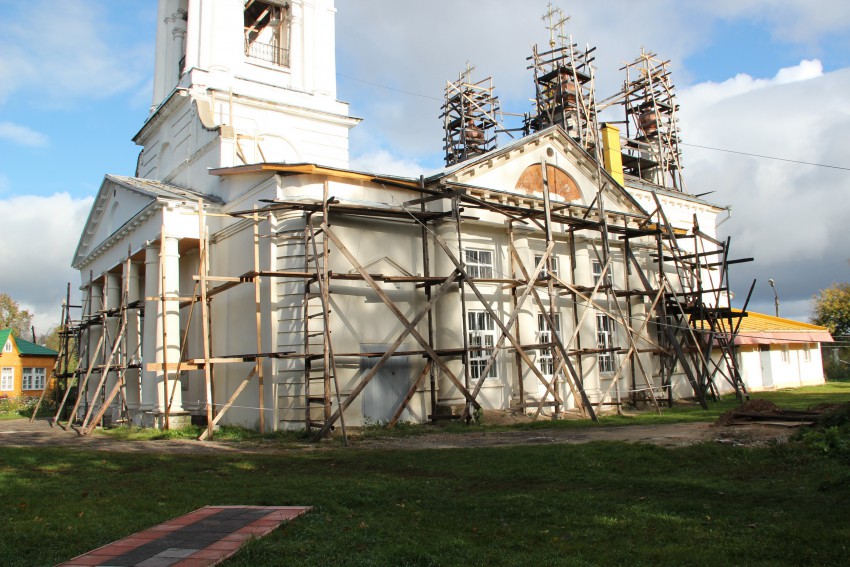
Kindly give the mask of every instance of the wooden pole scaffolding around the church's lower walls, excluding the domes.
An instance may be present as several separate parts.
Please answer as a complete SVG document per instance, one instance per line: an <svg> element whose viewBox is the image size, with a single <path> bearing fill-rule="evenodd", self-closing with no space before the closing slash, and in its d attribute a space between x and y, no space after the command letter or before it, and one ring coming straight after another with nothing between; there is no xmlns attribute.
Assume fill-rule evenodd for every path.
<svg viewBox="0 0 850 567"><path fill-rule="evenodd" d="M395 425L417 392L428 396L430 420L447 415L466 419L481 407L479 396L490 368L498 360L513 359L516 367L515 394L511 405L518 411L561 417L567 410L565 395L572 400L573 410L569 413L596 419L605 406L621 407L635 401L651 402L660 407L666 399L673 398L673 375L681 373L693 389L694 397L706 407L706 401L716 398L719 390L715 380L722 377L730 382L739 393L746 395L740 380L734 352L734 337L741 317L740 312L723 306L724 293L728 290L728 242L710 238L695 224L687 234L674 229L659 208L645 218L627 214L612 214L600 206L601 191L597 201L589 206L575 203L553 202L549 199L549 182L546 166L542 164L544 191L542 198L536 196L500 193L454 182L442 182L437 187L422 186L419 197L409 199L401 206L364 206L340 202L329 196L328 182L324 183L321 198L312 200L266 203L262 208L230 213L226 216L245 223L253 231L254 269L241 275L210 274L209 237L207 235L204 205L198 204L198 223L201 237L198 241L200 268L194 277L195 291L188 297L167 297L160 293L155 299L162 305L180 302L180 308L188 311L186 329L183 330L179 360L146 362L148 370L165 373L163 383L166 404L162 421L169 426L170 400L174 389L179 387L183 370L202 370L206 404L207 430L202 438L213 435L218 424L235 404L246 386L252 381L258 386L257 410L261 427L265 430L263 417L264 360L299 361L303 364L302 396L303 412L301 424L315 432L317 437L328 434L339 423L345 429L345 410L358 398L370 381L390 364L394 357L418 357L424 359L420 371L410 380L405 395L395 400L389 426ZM407 188L410 193L409 188ZM432 206L437 205L437 206ZM510 273L474 273L464 243L470 215L495 214L503 219L506 227L507 250L510 258ZM261 232L261 227L277 226L278 215L296 213L304 219L300 234L280 234L270 230ZM350 243L341 236L337 225L345 225L350 219L368 219L372 223L394 223L404 225L414 240L421 245L421 275L391 276L370 273L364 260L352 252ZM438 234L437 224L452 223L453 238L446 232ZM539 241L543 252L534 258L533 264L524 260L517 248L517 230L527 237ZM418 236L417 236L418 235ZM266 238L291 238L301 241L303 259L300 269L274 271L260 265L260 243ZM601 268L592 286L581 285L577 277L576 242L590 240L592 253ZM683 246L684 241L693 245ZM654 252L649 253L650 249ZM569 259L566 270L559 269L555 253ZM329 256L345 258L351 267L349 272L330 269ZM638 255L651 257L650 270L647 261ZM441 256L448 260L453 269L449 273L433 273L433 258ZM614 256L622 258L621 263ZM713 259L713 261L709 261ZM130 261L128 256L127 262ZM622 270L621 273L615 273ZM634 277L639 286L633 285ZM286 281L302 286L303 299L300 305L303 318L300 348L262 351L261 324L262 298L260 281L263 279ZM402 332L385 349L371 352L343 352L337 344L342 337L331 333L334 317L334 282L360 282L369 293L386 307L400 323ZM493 305L488 292L482 286L503 286L510 290L511 308L504 311ZM211 316L211 308L217 301L226 301L228 290L241 285L253 285L256 306L257 348L249 353L213 352L210 337L222 332L221 323ZM388 288L389 286L389 288ZM405 315L391 297L390 288L407 286L416 294L417 308L413 314ZM105 286L104 289L107 289ZM458 291L459 293L452 293ZM80 386L71 412L70 425L78 421L76 429L81 434L89 433L102 423L110 408L119 420L127 420L126 373L142 367L141 361L127 349L127 321L130 312L143 308L140 302L128 300L126 283L117 305L110 299L110 290L105 292L108 309L89 309L85 317L69 332L79 337L80 367L72 374ZM456 297L455 297L456 296ZM455 297L455 299L452 299ZM557 301L565 300L570 309L558 307ZM87 298L86 302L91 303ZM438 302L459 301L460 315L457 321L441 321L462 329L460 340L454 345L440 345L435 341L434 306ZM480 342L471 340L475 334L470 324L469 301L478 302L495 327L494 340ZM531 344L522 342L520 332L523 310L533 309L539 313L540 340ZM200 310L200 317L193 316ZM185 313L184 311L184 313ZM166 309L158 315L165 317ZM562 334L561 317L565 312L573 316L573 330ZM592 324L596 317L606 318L615 329L623 346L616 341L597 341L582 344L580 329ZM371 322L364 321L364 325ZM198 329L197 327L200 327ZM165 329L166 325L162 325ZM84 332L94 330L92 332ZM555 332L552 332L555 330ZM190 333L203 339L203 355L190 358L185 345ZM70 336L70 335L69 335ZM525 335L527 336L527 334ZM95 338L97 338L96 344ZM403 343L414 340L416 347L402 349ZM647 365L640 355L650 353L658 357L661 380L652 365ZM719 356L717 356L719 354ZM511 356L512 355L512 356ZM589 392L585 386L588 360L606 357L611 361L612 375L604 389ZM368 367L356 376L348 387L342 388L337 364L350 363L351 359L369 359ZM451 361L460 361L462 372L451 367ZM545 362L544 362L545 361ZM232 390L227 400L217 399L215 368L233 363L250 366L245 377ZM456 367L455 367L456 368ZM70 377L70 376L69 376ZM96 377L96 378L93 378ZM109 377L109 378L108 378ZM462 399L460 409L447 413L445 401L437 388L439 378L447 379L459 392ZM623 390L621 384L630 377L629 386ZM96 379L96 382L94 380ZM602 382L600 382L602 383ZM92 387L92 384L95 384ZM231 385L232 386L232 385ZM66 389L70 391L70 389ZM113 404L115 402L115 404ZM78 411L79 408L82 408ZM277 410L275 408L275 414ZM58 418L58 414L57 414ZM291 418L290 418L291 419ZM280 423L278 418L277 423Z"/></svg>

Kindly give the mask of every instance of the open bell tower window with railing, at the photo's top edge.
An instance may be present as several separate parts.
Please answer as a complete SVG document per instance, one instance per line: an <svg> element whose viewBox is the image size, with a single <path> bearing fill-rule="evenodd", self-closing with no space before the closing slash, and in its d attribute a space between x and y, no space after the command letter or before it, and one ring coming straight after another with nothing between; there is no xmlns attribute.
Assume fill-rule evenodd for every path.
<svg viewBox="0 0 850 567"><path fill-rule="evenodd" d="M245 3L245 56L289 67L289 2L248 0Z"/></svg>

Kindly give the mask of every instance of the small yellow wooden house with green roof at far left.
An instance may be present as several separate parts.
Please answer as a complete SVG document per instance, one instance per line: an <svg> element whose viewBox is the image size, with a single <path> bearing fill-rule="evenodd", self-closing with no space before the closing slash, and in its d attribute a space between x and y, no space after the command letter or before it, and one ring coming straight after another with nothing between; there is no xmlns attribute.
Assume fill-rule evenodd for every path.
<svg viewBox="0 0 850 567"><path fill-rule="evenodd" d="M40 396L54 385L59 353L0 330L0 397Z"/></svg>

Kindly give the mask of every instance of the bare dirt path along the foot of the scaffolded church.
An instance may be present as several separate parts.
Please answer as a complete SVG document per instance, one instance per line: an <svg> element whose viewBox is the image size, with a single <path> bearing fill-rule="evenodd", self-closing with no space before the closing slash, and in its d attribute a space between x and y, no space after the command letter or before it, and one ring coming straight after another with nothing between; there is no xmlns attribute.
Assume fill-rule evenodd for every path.
<svg viewBox="0 0 850 567"><path fill-rule="evenodd" d="M507 445L579 444L592 441L625 441L680 447L705 441L758 446L784 442L792 428L777 425L737 425L716 427L708 423L542 429L536 431L470 431L465 434L431 432L407 437L353 437L354 449L413 450L497 447ZM74 430L50 427L46 420L30 423L25 419L0 421L0 446L67 447L90 451L122 451L173 454L279 453L315 451L330 444L281 445L271 442L218 442L193 440L126 441L98 433L81 437ZM337 445L334 444L334 447Z"/></svg>

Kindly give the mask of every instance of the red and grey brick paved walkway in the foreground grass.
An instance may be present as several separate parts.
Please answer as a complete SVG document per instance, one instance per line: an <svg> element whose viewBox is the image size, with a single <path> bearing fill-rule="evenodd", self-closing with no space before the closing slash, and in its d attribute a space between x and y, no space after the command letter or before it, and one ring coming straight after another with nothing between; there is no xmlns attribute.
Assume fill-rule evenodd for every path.
<svg viewBox="0 0 850 567"><path fill-rule="evenodd" d="M249 539L263 537L309 509L303 506L207 506L75 557L59 567L218 565Z"/></svg>

